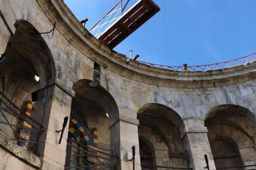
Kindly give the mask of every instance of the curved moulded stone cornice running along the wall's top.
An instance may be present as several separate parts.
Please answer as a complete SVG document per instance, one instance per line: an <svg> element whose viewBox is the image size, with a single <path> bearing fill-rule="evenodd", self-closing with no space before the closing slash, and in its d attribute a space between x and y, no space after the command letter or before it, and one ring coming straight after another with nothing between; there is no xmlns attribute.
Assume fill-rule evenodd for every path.
<svg viewBox="0 0 256 170"><path fill-rule="evenodd" d="M57 30L77 50L104 68L129 79L151 85L178 88L218 87L256 79L256 61L209 71L165 70L136 61L127 64L125 57L91 35L63 0L38 0L37 3L52 23L58 20Z"/></svg>

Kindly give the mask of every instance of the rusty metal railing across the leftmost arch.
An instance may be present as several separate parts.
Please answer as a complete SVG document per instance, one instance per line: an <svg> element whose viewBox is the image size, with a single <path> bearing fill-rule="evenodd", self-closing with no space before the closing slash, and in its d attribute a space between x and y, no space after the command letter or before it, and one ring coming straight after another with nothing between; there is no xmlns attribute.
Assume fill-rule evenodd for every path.
<svg viewBox="0 0 256 170"><path fill-rule="evenodd" d="M8 133L8 129L11 128L11 131L14 133L14 138L10 138L10 140L17 141L18 145L26 147L29 151L37 155L39 137L41 136L43 125L32 117L29 117L3 94L2 91L0 91L0 104L0 130L3 131L2 129L4 129L6 125L7 128L5 129L7 130L3 131L3 133ZM27 126L24 125L24 122ZM28 126L31 128L28 128ZM23 131L28 136L28 140L22 138L19 131Z"/></svg>

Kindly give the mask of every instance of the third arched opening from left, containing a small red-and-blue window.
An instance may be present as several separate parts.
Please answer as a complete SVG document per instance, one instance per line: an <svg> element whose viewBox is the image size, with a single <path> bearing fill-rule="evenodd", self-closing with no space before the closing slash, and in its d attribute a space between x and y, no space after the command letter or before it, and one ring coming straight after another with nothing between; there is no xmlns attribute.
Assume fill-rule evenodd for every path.
<svg viewBox="0 0 256 170"><path fill-rule="evenodd" d="M165 105L152 103L141 107L138 110L137 118L140 122L138 126L140 146L147 144L145 146L151 148L152 157L148 157L151 159L148 160L146 167L150 167L148 169L187 168L179 130L183 127L181 117ZM141 168L143 169L145 167L142 162L146 162L143 156L141 157Z"/></svg>

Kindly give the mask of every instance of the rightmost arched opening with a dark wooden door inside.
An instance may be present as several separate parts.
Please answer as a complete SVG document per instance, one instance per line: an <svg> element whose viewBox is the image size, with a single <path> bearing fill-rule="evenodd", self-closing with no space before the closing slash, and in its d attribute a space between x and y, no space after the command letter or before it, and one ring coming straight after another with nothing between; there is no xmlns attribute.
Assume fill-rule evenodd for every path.
<svg viewBox="0 0 256 170"><path fill-rule="evenodd" d="M256 153L256 125L251 111L237 105L219 105L207 113L204 124L216 168L242 170L242 166L254 165L250 155Z"/></svg>

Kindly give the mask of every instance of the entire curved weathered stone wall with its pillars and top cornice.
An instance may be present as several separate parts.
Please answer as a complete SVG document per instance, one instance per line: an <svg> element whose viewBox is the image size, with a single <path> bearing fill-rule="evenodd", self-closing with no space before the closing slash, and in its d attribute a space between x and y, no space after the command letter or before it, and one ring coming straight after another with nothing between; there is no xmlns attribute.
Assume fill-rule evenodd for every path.
<svg viewBox="0 0 256 170"><path fill-rule="evenodd" d="M106 141L110 141L112 150L119 153L122 170L132 168L132 163L127 161L128 158L131 158L130 148L132 145L137 148L136 170L140 169L137 113L146 104L161 104L171 108L179 115L182 125L177 126L177 128L182 142L172 144L171 134L168 137L167 133L166 138L169 141L167 145L173 145L174 152L176 152L182 151L182 143L188 166L195 170L201 170L206 166L204 154L209 155L210 169L215 169L206 135L207 130L203 124L203 121L209 115L209 110L218 105L238 105L250 111L248 119L251 122L244 122L244 126L254 126L256 114L255 61L246 65L206 72L163 70L134 61L127 64L124 57L107 48L83 28L62 0L0 0L0 12L1 54L5 52L7 43L11 35L15 34L16 29L23 29L23 27L19 27L19 24L16 24L16 27L14 26L14 23L17 23L16 20L23 19L27 21L38 32L49 31L52 29L53 23L57 21L52 39L49 39L45 34L41 35L43 41L38 41L38 39L32 37L33 45L39 42L39 44L43 44L41 47L45 51L38 50L43 51L43 53L36 53L39 56L38 58L33 58L33 53L29 55L31 59L34 59L31 60L31 63L38 68L39 76L45 77L40 82L39 87L47 88L47 96L44 96L44 99L47 97L47 103L44 104L43 99L36 109L38 114L42 115L45 112L46 115L46 121L44 122L46 130L41 141L42 154L40 156L44 159L42 169L57 170L64 168L65 139L68 132L65 131L63 141L61 145L58 145L59 134L55 130L60 130L63 117L70 115L71 100L75 96L72 89L73 84L83 79L93 80L94 62L101 65L101 87L105 88L113 97L117 105L118 115L111 117L113 113L108 113L110 114L108 126L110 130L105 128L107 120L101 116L97 117L97 115L91 114L85 119L91 127L98 126L101 129L99 130L101 131L99 142L108 145ZM25 29L22 33L24 39L26 37L29 39L31 34L24 32L26 32ZM22 45L31 46L29 41L22 44L14 43L15 48L19 46L22 48ZM48 63L48 59L51 60L50 63ZM50 65L50 67L47 68L46 65ZM50 77L47 77L47 70L44 71L43 68L47 68L51 72ZM20 85L17 86L19 89L22 88ZM9 89L11 89L11 86L8 86L7 90L9 91ZM26 95L23 96L24 100L29 98L29 93L31 91L27 91ZM18 96L17 100L23 101L23 98L20 95ZM17 103L22 103L20 101L17 101ZM46 110L44 106L46 106ZM170 115L171 113L167 112L165 117L171 120L173 117ZM103 121L97 123L96 120ZM173 119L172 121L176 122L177 120ZM240 124L240 122L236 121L234 124ZM254 142L254 127L245 129L248 131L250 139L252 138L251 141ZM161 131L166 133L165 129L161 129ZM111 136L112 139L105 135L107 133L113 135ZM197 138L198 136L200 138ZM243 142L248 145L252 144L245 139ZM200 148L201 145L204 145L205 148ZM249 164L254 161L253 149L243 150L240 151L241 154L242 152L248 153L248 156L243 156L245 158L244 162ZM0 153L6 154L2 150ZM163 158L161 159L163 161ZM15 158L15 161L19 160ZM170 165L176 166L179 161L170 160ZM2 162L5 164L6 161L3 160ZM20 161L20 164L23 166L24 163Z"/></svg>

